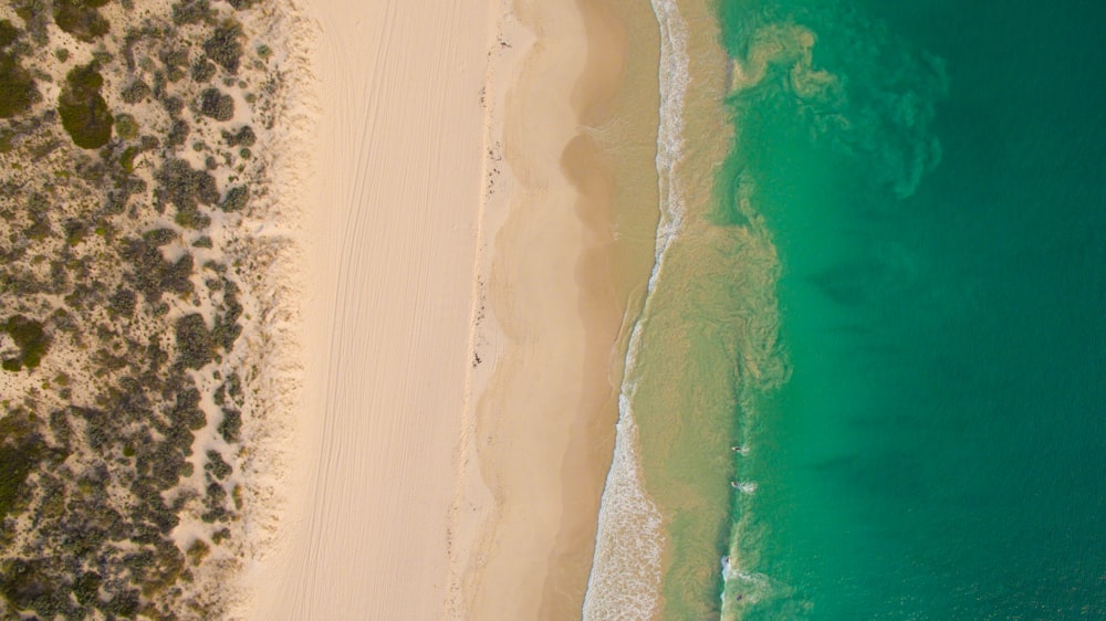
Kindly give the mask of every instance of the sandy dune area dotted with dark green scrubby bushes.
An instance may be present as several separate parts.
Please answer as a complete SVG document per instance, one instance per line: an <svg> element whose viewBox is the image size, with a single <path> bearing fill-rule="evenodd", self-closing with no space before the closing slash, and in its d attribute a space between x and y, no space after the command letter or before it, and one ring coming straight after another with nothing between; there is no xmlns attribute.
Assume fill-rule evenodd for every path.
<svg viewBox="0 0 1106 621"><path fill-rule="evenodd" d="M0 6L2 619L221 610L281 87L254 4Z"/></svg>

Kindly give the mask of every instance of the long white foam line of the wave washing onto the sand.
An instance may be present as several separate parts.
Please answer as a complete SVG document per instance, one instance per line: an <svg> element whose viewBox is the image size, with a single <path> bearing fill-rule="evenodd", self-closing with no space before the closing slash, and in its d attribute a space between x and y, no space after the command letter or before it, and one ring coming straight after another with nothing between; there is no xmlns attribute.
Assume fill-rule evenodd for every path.
<svg viewBox="0 0 1106 621"><path fill-rule="evenodd" d="M651 2L660 27L660 124L656 160L660 221L645 307L630 331L626 351L615 453L603 490L595 556L584 597L583 617L587 621L649 619L656 612L660 593L661 516L641 487L633 403L645 322L665 255L684 219L684 197L676 168L684 151L684 101L689 77L687 24L675 0Z"/></svg>

